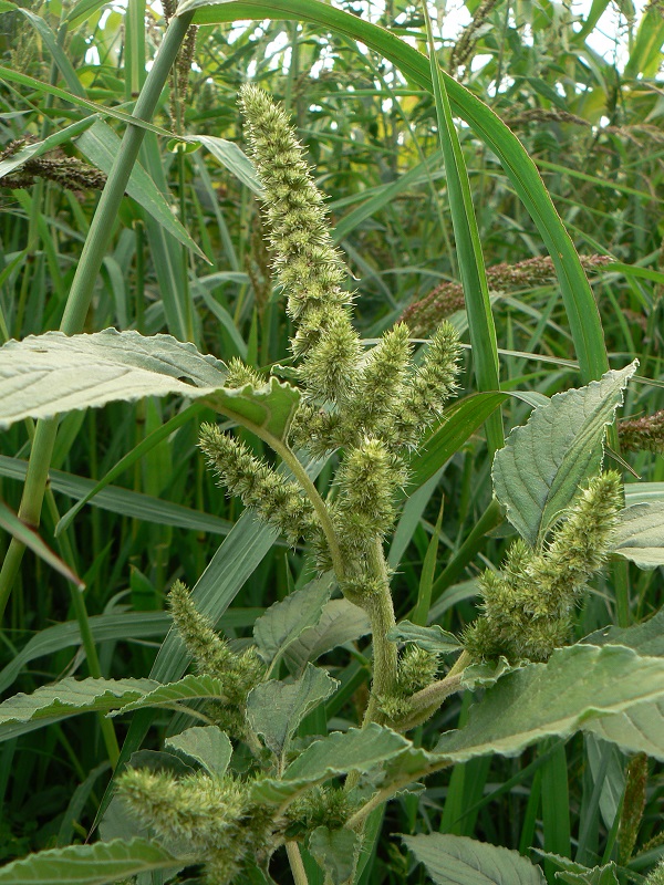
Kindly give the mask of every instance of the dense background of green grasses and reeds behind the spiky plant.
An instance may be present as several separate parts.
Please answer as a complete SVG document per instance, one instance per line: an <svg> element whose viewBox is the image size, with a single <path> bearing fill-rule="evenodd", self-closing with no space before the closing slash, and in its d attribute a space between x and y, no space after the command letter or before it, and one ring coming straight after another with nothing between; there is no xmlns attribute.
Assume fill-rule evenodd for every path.
<svg viewBox="0 0 664 885"><path fill-rule="evenodd" d="M342 6L425 50L419 8ZM599 52L598 34L606 27L602 14L611 9L619 24L611 34L614 52ZM654 413L664 405L664 10L657 2L636 11L630 0L615 8L595 0L580 18L548 0L484 0L469 1L461 11L459 21L470 21L465 28L446 27L445 9L437 10L435 35L446 35L436 44L439 61L519 136L580 253L609 260L587 266L611 365L637 357L640 375L660 379L660 385L631 385L623 414ZM126 9L50 0L6 11L0 28L4 341L60 325L103 184L100 170L110 170L123 113L144 83L164 21L160 9L141 0L129 0ZM468 341L434 97L346 37L269 20L203 25L195 49L190 44L189 55L180 58L154 119L166 135L148 133L139 156L154 186L139 174L133 177L85 331L169 332L224 360L237 355L256 366L288 361L283 299L272 289L251 170L227 143L215 140L240 140L236 96L249 77L284 102L330 197L338 242L356 278L363 337L375 337L408 311L417 334L426 336L432 317L448 313ZM168 133L208 140L178 149L183 143ZM578 386L551 267L547 260L520 266L546 256L541 237L496 156L467 125L458 135L489 269L502 387L550 396ZM11 168L18 152L48 138L52 150L38 150ZM71 158L93 168L72 165ZM427 296L426 311L412 306ZM468 354L461 378L468 392L475 389L473 367ZM505 428L523 423L528 408L509 398ZM104 676L149 674L169 627L164 597L177 577L195 585L212 562L208 580L229 606L220 627L241 642L266 607L311 576L299 551L279 542L252 543L247 520L229 535L240 504L224 499L196 448L198 424L210 415L197 406L148 399L72 413L61 424L42 534L85 582ZM13 510L32 433L25 423L2 437L1 496ZM255 438L246 441L261 451ZM60 522L127 452L134 455L111 485L68 524ZM664 481L661 455L625 457L643 480ZM500 561L509 541L505 528L481 543L471 534L490 502L489 470L480 430L455 450L442 473L418 486L390 551L391 565L398 566L398 617L421 598L421 574L432 575L430 622L458 632L474 617L475 577L487 562ZM323 468L322 488L329 476ZM226 538L224 564L215 566ZM0 543L7 544L7 535ZM87 674L69 586L40 559L25 558L2 633L0 689L8 695ZM622 611L615 586L631 601ZM660 571L619 569L598 584L581 613L579 635L647 616L662 605L661 587ZM302 733L355 721L354 708L366 691L365 647L360 641L328 658L342 690L305 720ZM467 706L460 699L447 707L445 720L434 718L421 739L428 746L430 735L463 722ZM128 721L114 720L121 745ZM160 746L167 726L173 723L166 715L155 720L144 746ZM405 848L390 836L425 827L523 853L532 846L587 865L611 857L625 864L629 854L615 856L612 830L624 771L618 750L588 736L542 743L519 759L471 760L452 775L430 779L418 796L390 806L365 881L421 881L422 868L413 868ZM647 773L629 866L634 877L662 852L662 771L651 767ZM108 741L94 715L0 745L0 858L84 841L108 777ZM308 872L315 883L315 866ZM281 881L279 871L273 875ZM288 876L286 868L282 875Z"/></svg>

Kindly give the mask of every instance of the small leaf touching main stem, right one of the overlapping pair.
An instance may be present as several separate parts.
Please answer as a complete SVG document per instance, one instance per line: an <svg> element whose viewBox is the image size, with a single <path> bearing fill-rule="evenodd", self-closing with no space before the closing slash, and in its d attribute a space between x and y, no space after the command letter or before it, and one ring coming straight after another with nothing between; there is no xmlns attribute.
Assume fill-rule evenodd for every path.
<svg viewBox="0 0 664 885"><path fill-rule="evenodd" d="M295 673L344 643L371 633L369 615L349 600L330 600L323 605L318 624L305 629L288 646L284 660Z"/></svg>

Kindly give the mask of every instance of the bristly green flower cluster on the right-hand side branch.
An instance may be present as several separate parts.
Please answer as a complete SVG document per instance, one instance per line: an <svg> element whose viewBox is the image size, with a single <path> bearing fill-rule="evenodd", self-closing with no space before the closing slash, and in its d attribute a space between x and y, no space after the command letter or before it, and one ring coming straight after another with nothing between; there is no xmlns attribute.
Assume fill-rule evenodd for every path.
<svg viewBox="0 0 664 885"><path fill-rule="evenodd" d="M474 660L547 660L569 642L572 612L606 560L621 507L620 475L602 473L578 496L548 548L516 541L502 571L484 573L483 614L465 636Z"/></svg>

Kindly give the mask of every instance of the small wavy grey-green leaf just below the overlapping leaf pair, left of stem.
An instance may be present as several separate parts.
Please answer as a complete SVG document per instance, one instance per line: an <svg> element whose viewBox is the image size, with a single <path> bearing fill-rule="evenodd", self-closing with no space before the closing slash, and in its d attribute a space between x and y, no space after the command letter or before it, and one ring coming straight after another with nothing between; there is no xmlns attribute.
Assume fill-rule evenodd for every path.
<svg viewBox="0 0 664 885"><path fill-rule="evenodd" d="M269 679L252 688L247 697L247 718L266 747L281 757L302 719L338 686L325 670L309 664L295 681Z"/></svg>

